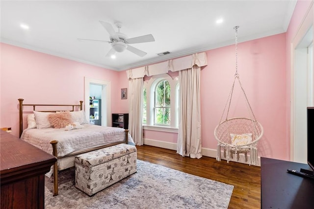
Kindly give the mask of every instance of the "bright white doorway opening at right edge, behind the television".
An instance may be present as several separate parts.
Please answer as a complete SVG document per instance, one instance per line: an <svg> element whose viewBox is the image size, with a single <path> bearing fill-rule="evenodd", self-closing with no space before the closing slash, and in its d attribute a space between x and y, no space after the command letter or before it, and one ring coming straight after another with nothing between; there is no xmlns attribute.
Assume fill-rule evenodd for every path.
<svg viewBox="0 0 314 209"><path fill-rule="evenodd" d="M294 49L291 160L307 163L307 106L313 106L313 26Z"/></svg>

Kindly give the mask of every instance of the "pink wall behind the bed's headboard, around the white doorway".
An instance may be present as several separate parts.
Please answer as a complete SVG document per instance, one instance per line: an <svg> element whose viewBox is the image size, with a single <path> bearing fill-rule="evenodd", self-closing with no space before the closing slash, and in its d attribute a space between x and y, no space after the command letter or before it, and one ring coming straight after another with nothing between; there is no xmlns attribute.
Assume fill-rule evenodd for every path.
<svg viewBox="0 0 314 209"><path fill-rule="evenodd" d="M84 77L110 80L111 111L120 110L118 72L7 44L0 47L0 127L12 127L14 135L19 127L17 99L25 99L25 104L79 104L84 100Z"/></svg>

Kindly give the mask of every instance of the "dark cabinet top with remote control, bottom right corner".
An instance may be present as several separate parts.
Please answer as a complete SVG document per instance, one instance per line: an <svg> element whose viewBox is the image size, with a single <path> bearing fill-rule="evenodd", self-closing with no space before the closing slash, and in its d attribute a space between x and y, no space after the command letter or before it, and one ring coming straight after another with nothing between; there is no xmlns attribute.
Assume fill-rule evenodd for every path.
<svg viewBox="0 0 314 209"><path fill-rule="evenodd" d="M262 209L313 209L314 180L287 169L311 170L308 164L261 157Z"/></svg>

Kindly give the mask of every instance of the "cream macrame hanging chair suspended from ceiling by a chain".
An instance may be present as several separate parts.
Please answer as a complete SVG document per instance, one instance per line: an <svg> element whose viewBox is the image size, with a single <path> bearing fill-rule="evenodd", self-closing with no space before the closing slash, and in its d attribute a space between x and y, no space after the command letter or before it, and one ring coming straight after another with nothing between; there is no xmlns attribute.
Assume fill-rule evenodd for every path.
<svg viewBox="0 0 314 209"><path fill-rule="evenodd" d="M214 130L215 138L218 141L216 159L217 161L221 160L221 149L223 149L224 157L228 163L230 159L233 159L234 155L236 156L237 160L239 160L239 154L241 153L244 153L245 161L247 162L248 161L247 154L250 153L249 164L258 165L259 162L258 162L257 143L262 138L264 131L263 131L262 125L255 118L252 107L246 97L245 91L240 82L239 74L237 73L237 29L238 27L239 26L234 27L235 29L235 78L234 78L231 91L229 93L227 103L224 107L224 111L221 115L219 125ZM235 87L235 80L238 81L239 86L242 90L251 118L246 118L246 117L228 118L231 100L232 100L234 87ZM235 143L236 142L235 139L239 140L237 141L238 143Z"/></svg>

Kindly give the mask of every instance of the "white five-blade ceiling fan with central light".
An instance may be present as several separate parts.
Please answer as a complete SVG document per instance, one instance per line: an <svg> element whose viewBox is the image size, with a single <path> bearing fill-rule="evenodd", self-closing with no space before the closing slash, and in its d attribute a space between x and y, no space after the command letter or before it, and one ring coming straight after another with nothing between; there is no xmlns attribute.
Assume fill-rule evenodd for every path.
<svg viewBox="0 0 314 209"><path fill-rule="evenodd" d="M134 38L128 38L125 34L120 33L120 28L122 26L121 22L115 22L114 24L118 27L118 32L115 32L112 25L110 23L106 23L104 21L99 21L102 26L105 27L107 32L109 33L110 41L102 41L102 40L93 40L93 39L82 39L78 38L79 41L96 41L96 42L104 42L109 43L111 45L111 50L106 54L106 56L111 56L116 52L124 52L128 50L133 52L139 56L145 56L147 53L143 52L135 47L130 46L129 44L137 44L137 43L145 43L155 41L152 34L138 36Z"/></svg>

